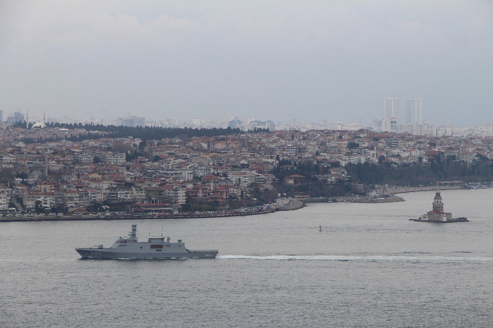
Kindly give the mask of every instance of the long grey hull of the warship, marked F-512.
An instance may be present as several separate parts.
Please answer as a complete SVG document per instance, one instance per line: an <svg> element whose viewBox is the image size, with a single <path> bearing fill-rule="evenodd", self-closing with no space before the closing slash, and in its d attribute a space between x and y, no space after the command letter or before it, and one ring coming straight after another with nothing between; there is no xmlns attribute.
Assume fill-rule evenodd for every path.
<svg viewBox="0 0 493 328"><path fill-rule="evenodd" d="M187 252L118 252L105 248L76 248L83 259L215 259L216 250Z"/></svg>

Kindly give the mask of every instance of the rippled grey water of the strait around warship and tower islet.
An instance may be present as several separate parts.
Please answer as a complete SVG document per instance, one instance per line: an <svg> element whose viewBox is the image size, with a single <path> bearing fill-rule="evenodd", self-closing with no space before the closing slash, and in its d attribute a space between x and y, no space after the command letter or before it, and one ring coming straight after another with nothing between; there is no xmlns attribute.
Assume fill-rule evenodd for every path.
<svg viewBox="0 0 493 328"><path fill-rule="evenodd" d="M131 221L0 225L0 327L492 327L493 190L444 191L472 222L408 221L434 193L268 215L136 220L216 260L80 260ZM322 232L318 232L319 224Z"/></svg>

